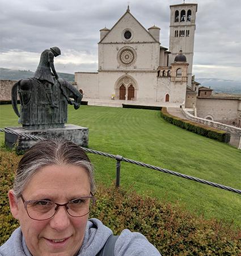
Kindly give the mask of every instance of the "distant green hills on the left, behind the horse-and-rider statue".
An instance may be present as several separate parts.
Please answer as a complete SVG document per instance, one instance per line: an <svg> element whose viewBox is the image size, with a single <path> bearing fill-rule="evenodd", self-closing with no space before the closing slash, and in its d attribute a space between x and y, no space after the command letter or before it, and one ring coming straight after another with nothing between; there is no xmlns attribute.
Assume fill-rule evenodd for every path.
<svg viewBox="0 0 241 256"><path fill-rule="evenodd" d="M34 72L29 70L14 70L8 68L0 68L0 79L5 80L20 80L28 77L33 77ZM68 73L58 73L58 76L69 82L74 82L74 75Z"/></svg>

